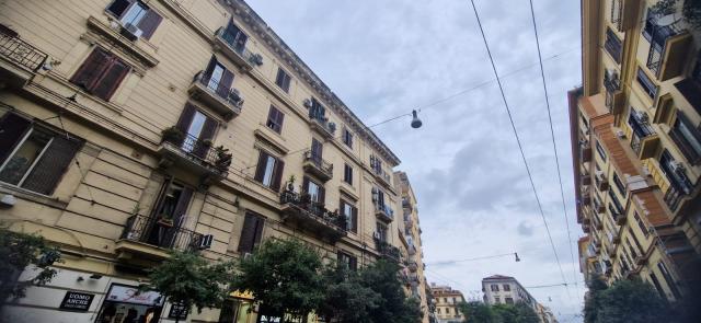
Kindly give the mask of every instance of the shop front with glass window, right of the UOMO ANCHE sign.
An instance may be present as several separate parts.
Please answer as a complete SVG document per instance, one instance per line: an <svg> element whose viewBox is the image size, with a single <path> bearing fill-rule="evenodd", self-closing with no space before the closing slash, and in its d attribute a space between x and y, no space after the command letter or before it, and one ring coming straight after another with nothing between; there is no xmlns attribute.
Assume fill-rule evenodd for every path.
<svg viewBox="0 0 701 323"><path fill-rule="evenodd" d="M156 291L141 291L138 287L112 284L97 312L96 323L156 323L164 299Z"/></svg>

